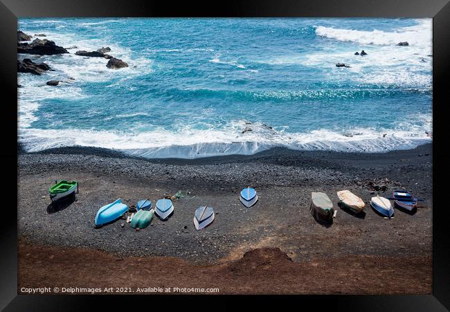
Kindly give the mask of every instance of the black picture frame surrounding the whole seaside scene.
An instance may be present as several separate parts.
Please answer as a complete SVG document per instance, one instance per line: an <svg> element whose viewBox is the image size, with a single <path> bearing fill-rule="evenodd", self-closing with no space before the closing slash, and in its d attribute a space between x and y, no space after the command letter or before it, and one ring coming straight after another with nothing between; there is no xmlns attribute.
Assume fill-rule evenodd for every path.
<svg viewBox="0 0 450 312"><path fill-rule="evenodd" d="M432 295L334 295L334 296L253 296L251 300L278 306L279 300L332 306L345 311L445 311L450 309L450 246L447 234L446 177L450 152L447 110L449 93L450 3L448 0L341 0L341 1L224 1L220 3L184 1L117 0L1 0L0 53L3 89L1 163L3 181L17 181L17 18L19 17L429 17L433 18L433 293ZM441 182L441 183L440 183ZM0 226L0 309L6 311L86 311L101 300L129 306L123 296L17 295L17 187L3 183L3 220ZM408 265L408 264L405 264ZM233 296L234 298L240 296ZM257 298L255 298L257 297ZM127 297L129 298L129 297ZM219 309L234 309L230 296L175 296L171 304L195 306L216 302ZM143 304L148 297L142 296ZM187 303L187 302L189 303ZM206 302L205 302L206 301ZM118 306L116 305L116 308Z"/></svg>

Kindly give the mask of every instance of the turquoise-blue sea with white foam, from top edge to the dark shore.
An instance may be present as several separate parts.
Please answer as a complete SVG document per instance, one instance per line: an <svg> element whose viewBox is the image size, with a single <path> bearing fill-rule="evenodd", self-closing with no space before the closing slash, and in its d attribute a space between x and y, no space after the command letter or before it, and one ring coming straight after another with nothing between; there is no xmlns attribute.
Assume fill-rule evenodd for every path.
<svg viewBox="0 0 450 312"><path fill-rule="evenodd" d="M431 142L431 26L431 19L19 19L29 35L78 47L18 56L55 70L19 73L19 142L29 152L87 146L147 158L413 148ZM396 46L404 41L409 46ZM75 55L103 46L129 67ZM354 55L362 49L368 55Z"/></svg>

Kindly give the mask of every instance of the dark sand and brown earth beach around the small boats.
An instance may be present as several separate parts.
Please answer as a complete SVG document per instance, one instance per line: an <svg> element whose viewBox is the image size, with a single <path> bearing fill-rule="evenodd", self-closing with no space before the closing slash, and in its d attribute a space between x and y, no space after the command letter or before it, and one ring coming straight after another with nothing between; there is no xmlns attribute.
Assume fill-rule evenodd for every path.
<svg viewBox="0 0 450 312"><path fill-rule="evenodd" d="M170 276L181 284L195 284L188 272L201 268L204 280L219 284L222 293L431 293L431 144L386 154L272 149L253 156L195 160L146 160L73 147L20 152L18 169L19 288L65 279L92 284L92 277L76 273L73 265L79 261L91 266L89 272L95 271L100 264L89 264L83 257L96 253L97 259L109 261L149 261L155 269L158 261L166 261L174 272L177 268L186 272L154 277L156 273L149 271L156 284L167 284ZM77 201L55 211L48 207L48 187L60 179L79 181L80 194ZM247 186L255 187L260 197L249 209L239 201L240 190ZM391 196L402 187L426 199L417 212L396 209L395 219L388 220L370 208L370 197ZM338 208L336 192L345 189L366 202L361 215ZM174 201L168 221L154 218L151 226L139 231L125 220L93 227L98 208L118 198L129 206L144 198L155 203L179 190L189 191L190 198ZM325 192L332 199L338 210L332 224L318 223L310 214L311 192ZM217 217L210 227L196 231L194 211L205 204L215 208ZM59 259L55 267L48 255ZM249 259L255 264L273 261L263 261L248 272L236 269ZM405 261L407 270L402 267ZM327 266L330 263L332 267ZM56 268L58 273L51 277L47 271ZM337 277L326 283L321 272L331 274L332 268ZM267 279L258 288L251 276L263 272ZM296 280L290 291L283 274ZM138 275L125 275L116 277L134 286L145 284ZM305 283L306 278L315 279L316 291L296 275ZM235 288L235 278L242 289ZM366 286L357 290L343 286L352 278ZM101 284L101 279L96 282ZM406 288L405 283L415 288ZM279 287L269 288L271 284Z"/></svg>

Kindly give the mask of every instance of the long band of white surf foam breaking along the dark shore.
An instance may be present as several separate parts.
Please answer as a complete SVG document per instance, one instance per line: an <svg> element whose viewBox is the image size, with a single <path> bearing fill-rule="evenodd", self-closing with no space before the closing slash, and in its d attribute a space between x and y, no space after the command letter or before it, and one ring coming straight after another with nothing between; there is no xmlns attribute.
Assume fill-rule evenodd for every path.
<svg viewBox="0 0 450 312"><path fill-rule="evenodd" d="M430 142L431 138L426 135L425 129L431 131L431 119L427 119L424 125L413 126L407 130L360 128L334 132L318 129L309 133L288 133L283 129L270 129L263 124L255 123L251 125L252 131L244 134L243 121L231 122L224 129L184 128L179 132L155 129L139 134L80 129L21 129L20 141L24 143L28 152L67 146L104 147L146 158L249 155L272 147L341 152L388 152L394 149L410 149Z"/></svg>

